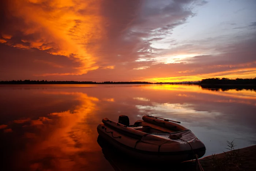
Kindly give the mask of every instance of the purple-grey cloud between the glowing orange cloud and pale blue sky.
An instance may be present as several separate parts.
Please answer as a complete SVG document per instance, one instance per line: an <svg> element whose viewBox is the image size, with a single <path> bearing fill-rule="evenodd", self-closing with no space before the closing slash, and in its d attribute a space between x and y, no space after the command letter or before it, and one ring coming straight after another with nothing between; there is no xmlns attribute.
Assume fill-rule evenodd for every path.
<svg viewBox="0 0 256 171"><path fill-rule="evenodd" d="M95 54L104 57L99 63L107 65L132 62L141 55L149 57L155 54L153 51L161 51L151 47L151 41L163 39L171 34L174 27L194 15L192 9L186 7L194 2L191 0L131 1L129 4L107 2L103 14L107 18L109 37Z"/></svg>

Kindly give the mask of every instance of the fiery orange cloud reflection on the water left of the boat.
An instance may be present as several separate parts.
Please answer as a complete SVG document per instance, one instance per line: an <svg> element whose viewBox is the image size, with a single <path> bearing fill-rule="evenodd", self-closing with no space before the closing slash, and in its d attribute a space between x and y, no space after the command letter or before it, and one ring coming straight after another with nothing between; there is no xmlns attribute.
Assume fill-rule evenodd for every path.
<svg viewBox="0 0 256 171"><path fill-rule="evenodd" d="M98 98L89 97L82 92L63 92L62 90L60 92L30 93L41 94L41 96L46 94L47 97L65 95L72 99L69 105L72 107L66 111L53 112L56 110L53 106L61 105L62 101L59 99L60 103L58 103L53 98L52 101L46 103L53 106L45 106L52 112L45 113L45 116L38 117L38 119L22 117L8 122L7 125L2 125L1 139L4 141L1 142L1 146L7 147L4 149L6 153L11 153L8 163L9 167L13 168L9 169L79 170L85 167L91 170L101 170L97 165L99 162L97 158L102 154L94 141L97 137L94 133L95 127L91 127L91 123L98 123L98 120L93 121L95 102L98 101ZM50 99L46 98L45 100ZM79 101L78 105L73 107L72 101ZM33 106L31 107L33 108ZM65 109L65 106L63 107ZM26 108L30 108L30 106L26 106ZM33 110L29 114L33 114L32 112ZM27 116L28 113L25 114L25 117ZM7 132L11 134L7 134ZM12 149L13 147L18 148ZM13 166L11 158L14 157L15 165ZM102 162L104 163L104 161Z"/></svg>

